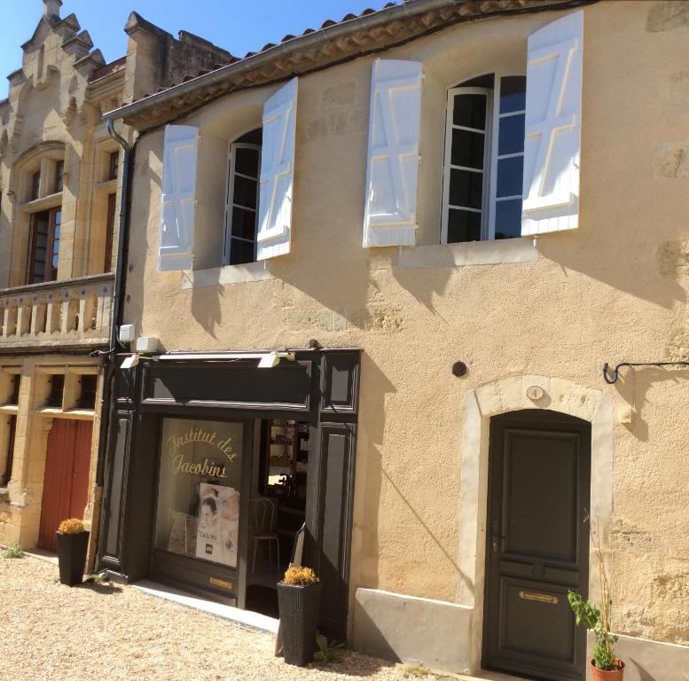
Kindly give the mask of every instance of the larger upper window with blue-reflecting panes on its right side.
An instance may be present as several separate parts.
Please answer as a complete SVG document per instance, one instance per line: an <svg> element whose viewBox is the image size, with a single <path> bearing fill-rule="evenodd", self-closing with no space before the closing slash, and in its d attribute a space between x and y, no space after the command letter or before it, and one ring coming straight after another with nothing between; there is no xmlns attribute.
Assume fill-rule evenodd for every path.
<svg viewBox="0 0 689 681"><path fill-rule="evenodd" d="M521 236L526 77L489 74L448 92L442 242Z"/></svg>

